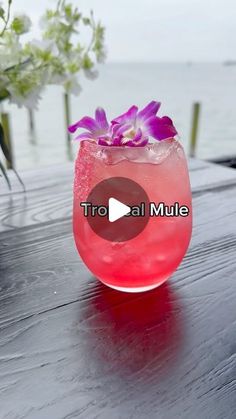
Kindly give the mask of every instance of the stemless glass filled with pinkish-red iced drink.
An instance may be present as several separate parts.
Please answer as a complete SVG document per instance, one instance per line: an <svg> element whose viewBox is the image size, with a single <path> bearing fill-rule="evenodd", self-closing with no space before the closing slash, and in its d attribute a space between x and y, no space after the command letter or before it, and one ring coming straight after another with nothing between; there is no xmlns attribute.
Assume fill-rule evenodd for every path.
<svg viewBox="0 0 236 419"><path fill-rule="evenodd" d="M186 217L150 217L144 230L124 242L112 242L89 226L80 203L92 188L111 177L138 183L151 202L185 205ZM108 147L84 140L75 164L73 230L78 252L106 285L127 292L162 284L182 261L192 231L191 190L184 151L175 139L145 147Z"/></svg>

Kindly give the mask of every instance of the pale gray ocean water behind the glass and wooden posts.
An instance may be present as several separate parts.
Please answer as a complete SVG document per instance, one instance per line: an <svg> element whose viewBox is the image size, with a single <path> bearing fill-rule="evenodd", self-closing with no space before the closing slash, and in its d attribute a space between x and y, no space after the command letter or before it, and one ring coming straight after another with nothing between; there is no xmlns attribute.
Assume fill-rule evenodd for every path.
<svg viewBox="0 0 236 419"><path fill-rule="evenodd" d="M104 64L95 81L81 78L83 91L71 96L71 122L93 115L97 106L108 117L130 105L142 107L155 99L162 102L160 115L169 115L177 127L185 151L193 102L201 102L196 155L214 158L236 154L236 66L222 64ZM28 128L25 109L4 103L10 112L16 167L19 170L63 163L68 160L63 93L50 86L35 112L36 132ZM73 144L73 156L78 144Z"/></svg>

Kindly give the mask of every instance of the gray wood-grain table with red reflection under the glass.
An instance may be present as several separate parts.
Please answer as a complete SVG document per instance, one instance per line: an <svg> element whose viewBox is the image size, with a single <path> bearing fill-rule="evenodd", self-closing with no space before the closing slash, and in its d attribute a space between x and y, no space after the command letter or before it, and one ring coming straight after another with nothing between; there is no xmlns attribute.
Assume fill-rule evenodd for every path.
<svg viewBox="0 0 236 419"><path fill-rule="evenodd" d="M136 295L81 262L70 165L22 174L27 195L1 180L1 419L236 418L236 171L190 174L189 251Z"/></svg>

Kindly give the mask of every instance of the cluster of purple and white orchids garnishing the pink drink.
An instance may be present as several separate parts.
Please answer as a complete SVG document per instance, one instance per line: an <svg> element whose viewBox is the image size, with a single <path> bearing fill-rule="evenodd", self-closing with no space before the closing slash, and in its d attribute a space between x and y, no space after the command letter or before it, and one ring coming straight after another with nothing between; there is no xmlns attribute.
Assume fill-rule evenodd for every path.
<svg viewBox="0 0 236 419"><path fill-rule="evenodd" d="M161 141L177 134L168 116L156 116L160 106L160 102L155 101L141 111L137 106L131 106L127 112L113 119L110 125L104 109L98 108L95 119L85 116L68 129L71 133L78 128L86 130L76 137L78 140L90 139L105 146L143 147L148 143L149 136Z"/></svg>

